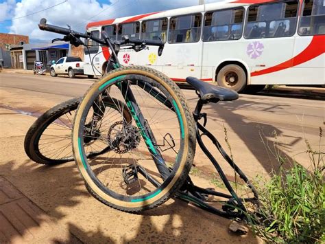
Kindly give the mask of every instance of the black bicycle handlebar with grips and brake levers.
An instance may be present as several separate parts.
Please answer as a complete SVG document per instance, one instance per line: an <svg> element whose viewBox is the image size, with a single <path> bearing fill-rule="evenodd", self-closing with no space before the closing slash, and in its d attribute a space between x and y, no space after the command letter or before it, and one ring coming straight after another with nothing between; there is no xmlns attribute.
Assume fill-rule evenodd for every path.
<svg viewBox="0 0 325 244"><path fill-rule="evenodd" d="M103 36L104 38L97 38L95 36L92 35L88 35L88 34L83 34L80 32L75 32L71 29L68 28L64 28L64 27L60 27L60 26L56 26L56 25L49 25L47 24L47 20L45 18L40 20L40 23L38 24L38 27L40 28L40 30L45 30L48 32L54 32L54 33L58 33L58 34L63 34L65 36L68 36L69 39L63 39L64 41L77 41L77 40L71 40L71 38L90 38L93 41L96 41L97 43L100 43L102 45L105 46L110 46L107 41L109 40L108 35L106 34L106 32L101 32L101 36ZM80 42L77 41L77 43L81 44ZM160 56L163 52L163 48L164 48L164 43L162 41L153 41L153 40L129 40L129 39L125 39L122 41L110 41L110 43L112 45L128 45L128 44L133 44L135 46L139 46L139 45L151 45L151 46L158 46L158 55Z"/></svg>

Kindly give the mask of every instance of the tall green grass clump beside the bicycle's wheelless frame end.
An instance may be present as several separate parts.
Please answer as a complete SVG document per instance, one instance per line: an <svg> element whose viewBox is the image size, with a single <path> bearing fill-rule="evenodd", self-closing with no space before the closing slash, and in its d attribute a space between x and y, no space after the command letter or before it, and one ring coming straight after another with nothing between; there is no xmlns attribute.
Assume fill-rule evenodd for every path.
<svg viewBox="0 0 325 244"><path fill-rule="evenodd" d="M325 185L324 155L320 146L313 150L306 140L306 153L311 166L306 169L294 163L289 169L286 160L278 155L280 168L272 178L258 187L261 208L248 219L252 230L267 242L324 243L325 242ZM258 217L256 217L258 216Z"/></svg>

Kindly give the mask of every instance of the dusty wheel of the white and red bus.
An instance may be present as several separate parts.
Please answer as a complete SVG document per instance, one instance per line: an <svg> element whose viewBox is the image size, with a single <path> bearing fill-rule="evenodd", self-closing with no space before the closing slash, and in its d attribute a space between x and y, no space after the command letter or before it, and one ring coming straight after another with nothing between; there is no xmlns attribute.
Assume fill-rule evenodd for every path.
<svg viewBox="0 0 325 244"><path fill-rule="evenodd" d="M230 71L233 71L238 76L237 84L234 86L228 85L226 82L226 74ZM218 75L217 75L217 83L220 87L227 87L234 91L240 92L245 89L247 84L247 76L245 74L245 71L239 66L239 65L226 65L222 69L220 69Z"/></svg>

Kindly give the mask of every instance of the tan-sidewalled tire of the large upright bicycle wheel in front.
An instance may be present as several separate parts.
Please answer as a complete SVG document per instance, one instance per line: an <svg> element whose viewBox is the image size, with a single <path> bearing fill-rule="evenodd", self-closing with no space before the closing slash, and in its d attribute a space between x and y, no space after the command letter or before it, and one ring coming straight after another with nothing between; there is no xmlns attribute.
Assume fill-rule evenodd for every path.
<svg viewBox="0 0 325 244"><path fill-rule="evenodd" d="M86 107L86 104L91 99L93 93L97 92L99 87L108 82L108 80L112 80L112 78L116 78L117 76L123 76L128 74L139 74L147 76L159 82L160 85L163 85L163 87L165 87L165 89L167 89L167 91L171 94L173 100L175 100L178 109L180 110L180 115L182 117L184 126L184 151L182 154L182 158L180 158L180 166L178 167L178 170L176 170L175 176L173 177L173 179L171 179L169 184L165 188L163 188L161 192L154 195L154 197L146 199L145 201L134 202L123 201L111 197L94 183L93 179L91 179L90 175L88 175L87 173L86 168L84 167L84 164L82 162L82 152L80 151L78 144L79 128L82 120L82 113ZM166 82L166 79L168 83ZM80 170L84 181L86 181L86 185L88 185L88 191L91 192L91 194L99 201L113 208L117 208L119 210L127 212L138 212L140 210L154 208L156 206L159 206L161 203L167 201L170 195L175 193L178 188L182 186L187 175L189 174L189 170L191 168L195 153L195 126L193 116L191 116L191 113L189 112L189 109L186 106L186 100L184 99L182 93L180 93L180 89L167 76L154 69L149 69L147 67L122 67L120 69L116 69L115 71L111 71L106 76L104 76L104 78L101 78L101 80L95 82L93 86L86 92L84 99L82 100L77 109L75 121L73 124L73 153L75 156L77 168Z"/></svg>

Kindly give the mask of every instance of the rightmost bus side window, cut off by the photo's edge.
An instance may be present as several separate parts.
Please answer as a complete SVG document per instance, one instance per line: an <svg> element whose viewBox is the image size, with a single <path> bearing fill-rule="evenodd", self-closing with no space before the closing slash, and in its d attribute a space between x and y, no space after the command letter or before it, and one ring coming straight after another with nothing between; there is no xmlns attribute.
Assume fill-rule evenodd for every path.
<svg viewBox="0 0 325 244"><path fill-rule="evenodd" d="M304 0L298 33L302 36L325 34L324 0Z"/></svg>

